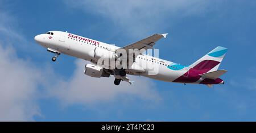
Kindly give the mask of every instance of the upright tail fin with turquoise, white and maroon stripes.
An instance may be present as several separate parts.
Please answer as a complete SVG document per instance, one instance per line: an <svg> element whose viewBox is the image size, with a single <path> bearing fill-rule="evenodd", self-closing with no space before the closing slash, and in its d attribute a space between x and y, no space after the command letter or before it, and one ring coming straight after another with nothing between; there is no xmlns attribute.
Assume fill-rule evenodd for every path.
<svg viewBox="0 0 256 133"><path fill-rule="evenodd" d="M189 65L189 67L201 70L201 73L213 72L218 69L221 61L223 60L227 48L218 46L210 51L207 55L201 57L201 59L197 60L195 63Z"/></svg>

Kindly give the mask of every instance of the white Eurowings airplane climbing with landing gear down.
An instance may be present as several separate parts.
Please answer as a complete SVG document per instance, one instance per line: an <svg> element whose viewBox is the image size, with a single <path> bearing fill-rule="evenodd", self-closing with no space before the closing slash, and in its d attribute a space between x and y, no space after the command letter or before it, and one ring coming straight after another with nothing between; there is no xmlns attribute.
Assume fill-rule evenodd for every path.
<svg viewBox="0 0 256 133"><path fill-rule="evenodd" d="M35 36L36 43L42 45L48 52L54 53L52 61L56 61L61 53L74 56L79 59L90 61L86 64L84 74L90 77L110 77L114 76L114 84L119 85L121 81L133 84L127 75L144 76L155 80L177 82L182 84L203 84L212 87L216 84L224 84L224 80L219 78L227 70L218 70L222 59L227 52L227 48L218 46L207 55L201 57L191 65L181 65L171 61L159 59L146 55L143 52L137 54L129 53L131 49L139 51L144 49L154 49L156 41L166 38L168 34L154 34L125 47L117 47L112 44L85 38L79 35L63 31L49 31L45 34ZM118 51L124 51L122 54ZM125 57L126 60L121 60ZM129 58L129 61L127 61ZM100 60L114 60L119 64L127 63L129 67L116 65L107 62L99 63ZM131 59L131 60L130 60ZM110 64L110 65L109 65ZM125 64L127 66L127 64ZM154 73L152 69L157 68ZM152 74L153 73L153 74Z"/></svg>

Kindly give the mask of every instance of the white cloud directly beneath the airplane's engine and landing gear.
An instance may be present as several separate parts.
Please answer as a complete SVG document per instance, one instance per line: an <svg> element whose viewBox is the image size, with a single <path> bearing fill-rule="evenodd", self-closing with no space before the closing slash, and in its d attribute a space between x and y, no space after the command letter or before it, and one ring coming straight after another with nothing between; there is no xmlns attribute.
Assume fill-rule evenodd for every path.
<svg viewBox="0 0 256 133"><path fill-rule="evenodd" d="M131 86L127 82L121 82L115 86L114 78L93 78L83 73L87 61L76 60L76 69L69 80L59 80L49 89L52 97L59 98L64 105L81 103L82 105L117 100L121 95L135 95L148 100L159 101L154 83L144 77L129 76L135 83ZM121 97L122 99L122 97Z"/></svg>

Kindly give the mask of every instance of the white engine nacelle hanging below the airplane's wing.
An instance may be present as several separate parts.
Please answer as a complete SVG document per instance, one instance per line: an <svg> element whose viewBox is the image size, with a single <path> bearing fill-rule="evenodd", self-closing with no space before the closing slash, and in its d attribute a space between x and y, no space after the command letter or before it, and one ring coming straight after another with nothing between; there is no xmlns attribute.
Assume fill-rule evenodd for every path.
<svg viewBox="0 0 256 133"><path fill-rule="evenodd" d="M98 77L100 78L103 73L103 68L97 65L86 64L84 69L84 74L90 77Z"/></svg>

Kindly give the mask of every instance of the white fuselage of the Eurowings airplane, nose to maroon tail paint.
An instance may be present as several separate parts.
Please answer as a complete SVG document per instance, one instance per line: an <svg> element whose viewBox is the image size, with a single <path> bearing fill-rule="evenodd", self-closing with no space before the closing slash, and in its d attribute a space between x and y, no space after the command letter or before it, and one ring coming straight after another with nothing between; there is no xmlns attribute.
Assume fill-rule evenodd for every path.
<svg viewBox="0 0 256 133"><path fill-rule="evenodd" d="M106 49L108 51L115 51L116 49L120 48L101 41L84 38L75 34L69 34L68 32L52 32L54 33L53 35L38 35L35 37L37 38L35 40L38 41L38 43L43 47L52 48L60 53L88 60L92 63L97 62L97 60L94 60L91 56L91 53L95 50L95 48ZM162 81L174 81L177 77L182 76L187 71L187 69L171 70L168 68L170 64L173 64L171 61L159 59L149 55L138 55L134 63L144 69L144 72L139 73L139 75ZM152 67L156 66L158 67L158 73L148 74ZM135 75L137 74L135 73Z"/></svg>

